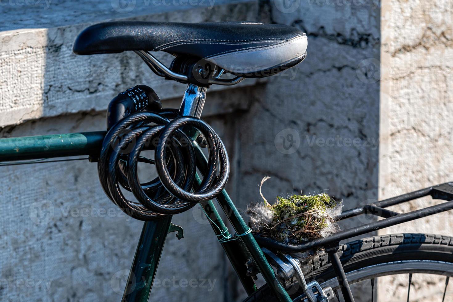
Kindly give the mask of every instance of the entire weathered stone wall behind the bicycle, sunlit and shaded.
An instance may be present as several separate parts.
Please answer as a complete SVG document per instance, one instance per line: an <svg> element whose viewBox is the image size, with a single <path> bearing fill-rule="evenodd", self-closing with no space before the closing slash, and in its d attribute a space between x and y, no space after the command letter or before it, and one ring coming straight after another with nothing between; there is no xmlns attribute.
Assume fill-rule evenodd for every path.
<svg viewBox="0 0 453 302"><path fill-rule="evenodd" d="M307 33L308 57L297 67L266 83L252 81L245 85L255 86L208 94L205 117L227 144L229 189L240 211L260 199L257 184L266 175L272 177L263 187L268 200L284 192L326 190L342 198L347 208L376 201L378 195L382 199L452 180L448 178L453 161L449 155L453 147L449 125L453 109L451 1L395 0L382 8L377 1L247 2L171 13L144 7L143 16L136 16L135 11L121 14L194 22L267 20ZM140 7L138 0L136 4ZM109 10L105 15L117 18ZM162 99L169 99L164 101L166 106L178 106L175 97L184 87L150 75L133 54L76 57L70 53L73 38L87 25L79 23L107 19L104 13L92 18L94 11L96 6L87 8L75 23L41 18L40 27L63 26L56 29L21 31L28 27L26 18L3 25L9 26L4 30L14 31L0 34L0 125L78 112L6 127L3 136L103 129L105 117L99 112L112 96L137 83L148 84ZM50 76L43 77L46 71ZM19 97L20 93L24 96ZM141 223L125 217L67 214L67 209L92 205L118 213L98 184L95 164L53 163L2 170L2 212L11 214L1 220L5 230L1 275L11 277L12 284L28 278L35 283L53 280L47 292L36 286L7 285L0 291L2 300L119 300L113 288L120 284L122 270L130 267ZM51 202L54 213L48 223L38 225L30 211L34 202L44 200ZM423 199L396 210L431 204L434 201ZM169 279L172 285L156 286L154 300L241 301L244 297L202 217L198 207L175 216L186 238L177 241L169 235L157 279ZM445 233L451 221L444 214L382 233ZM345 221L344 226L366 222L361 217ZM200 234L207 236L201 240ZM173 276L210 278L214 289L208 291L209 283L207 288L181 288L181 281L173 283ZM407 275L380 282L380 301L393 295L395 300L404 299ZM414 301L443 290L443 280L434 277L414 278L413 282ZM369 288L357 291L364 294L356 301L369 301Z"/></svg>

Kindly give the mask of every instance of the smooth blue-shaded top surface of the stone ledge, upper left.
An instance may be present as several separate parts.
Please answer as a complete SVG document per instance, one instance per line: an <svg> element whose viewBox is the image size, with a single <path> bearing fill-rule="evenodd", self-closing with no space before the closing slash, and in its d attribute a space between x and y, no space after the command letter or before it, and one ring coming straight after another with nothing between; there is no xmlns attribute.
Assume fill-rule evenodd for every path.
<svg viewBox="0 0 453 302"><path fill-rule="evenodd" d="M72 1L8 0L0 6L0 31L67 26L107 19L122 19L138 15L159 14L176 10L200 8L212 10L216 5L250 2L249 0L108 0Z"/></svg>

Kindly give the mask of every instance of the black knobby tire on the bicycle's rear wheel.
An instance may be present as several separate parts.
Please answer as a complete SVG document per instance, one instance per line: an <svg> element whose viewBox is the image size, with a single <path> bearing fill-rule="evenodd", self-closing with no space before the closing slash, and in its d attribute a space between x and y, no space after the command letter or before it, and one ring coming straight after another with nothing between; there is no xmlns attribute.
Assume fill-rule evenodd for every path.
<svg viewBox="0 0 453 302"><path fill-rule="evenodd" d="M357 271L361 271L364 275L367 268L376 270L378 266L395 267L398 263L405 268L410 268L407 264L415 261L418 269L412 269L412 273L424 272L422 269L424 267L427 271L432 271L434 270L432 264L438 263L437 273L453 276L453 237L450 236L410 233L368 237L341 245L338 255L350 283L357 281L350 279L350 275L357 275ZM419 265L423 262L427 265ZM304 262L302 270L307 282L317 280L323 287L332 286L335 283L337 285L328 254L324 251L318 252L313 258ZM381 273L381 275L385 274L391 273ZM285 282L284 287L290 289L295 283L296 280L293 277ZM294 292L291 298L296 299L301 294L302 292L299 291ZM244 300L244 302L276 301L278 301L277 298L267 284Z"/></svg>

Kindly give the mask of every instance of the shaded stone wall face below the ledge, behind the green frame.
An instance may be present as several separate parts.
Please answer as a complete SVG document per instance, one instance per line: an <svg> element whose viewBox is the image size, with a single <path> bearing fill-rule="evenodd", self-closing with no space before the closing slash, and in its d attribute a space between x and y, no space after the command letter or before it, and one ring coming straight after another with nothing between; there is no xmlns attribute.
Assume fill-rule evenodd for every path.
<svg viewBox="0 0 453 302"><path fill-rule="evenodd" d="M245 98L250 91L232 90L231 96L239 95ZM208 103L222 99L222 93L212 92ZM178 99L164 104L178 104ZM236 130L231 127L232 115L212 118L205 114L204 118L233 154ZM105 121L103 112L65 115L5 127L0 135L92 131L105 129ZM125 216L106 197L96 163L42 163L0 169L0 226L4 230L1 300L119 301L142 222ZM231 173L234 178L235 173ZM177 240L174 233L167 237L152 300L232 299L230 264L199 207L174 216L173 223L183 227L184 238Z"/></svg>

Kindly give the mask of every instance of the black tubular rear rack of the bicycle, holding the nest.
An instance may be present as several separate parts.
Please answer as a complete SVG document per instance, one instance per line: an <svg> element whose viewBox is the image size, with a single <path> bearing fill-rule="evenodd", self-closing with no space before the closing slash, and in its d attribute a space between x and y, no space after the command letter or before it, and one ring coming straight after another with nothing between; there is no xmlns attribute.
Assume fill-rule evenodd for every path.
<svg viewBox="0 0 453 302"><path fill-rule="evenodd" d="M423 209L410 211L408 213L397 213L386 209L389 206L395 206L403 202L414 199L431 196L433 199L446 200L439 205L429 206ZM427 187L418 191L392 197L376 203L366 204L357 208L343 211L337 220L343 220L361 214L369 214L384 219L373 221L368 224L360 225L355 228L339 231L328 238L318 238L301 244L287 244L270 238L255 235L255 239L261 247L267 249L279 250L282 252L303 252L308 249L325 248L332 267L337 275L338 284L340 285L343 298L346 302L353 302L351 289L347 282L346 273L344 272L340 258L338 257L338 247L341 240L347 240L358 235L381 230L392 225L413 221L422 217L431 216L444 211L453 209L453 182L445 182L433 187Z"/></svg>

